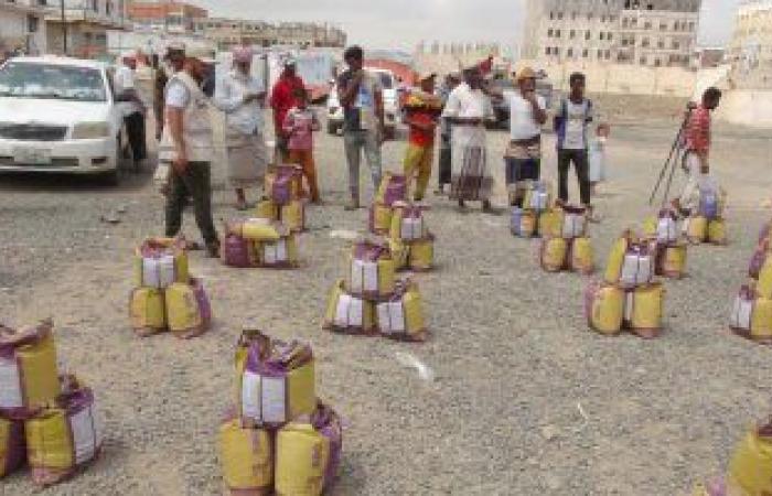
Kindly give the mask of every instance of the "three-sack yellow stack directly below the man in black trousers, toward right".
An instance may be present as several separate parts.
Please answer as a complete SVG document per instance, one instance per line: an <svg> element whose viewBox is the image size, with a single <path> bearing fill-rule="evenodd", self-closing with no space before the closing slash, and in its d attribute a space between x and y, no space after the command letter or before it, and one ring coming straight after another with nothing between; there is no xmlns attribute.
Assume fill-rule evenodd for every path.
<svg viewBox="0 0 772 496"><path fill-rule="evenodd" d="M616 335L629 330L653 338L662 330L664 289L655 280L656 242L625 231L609 255L603 282L592 282L585 294L591 328Z"/></svg>

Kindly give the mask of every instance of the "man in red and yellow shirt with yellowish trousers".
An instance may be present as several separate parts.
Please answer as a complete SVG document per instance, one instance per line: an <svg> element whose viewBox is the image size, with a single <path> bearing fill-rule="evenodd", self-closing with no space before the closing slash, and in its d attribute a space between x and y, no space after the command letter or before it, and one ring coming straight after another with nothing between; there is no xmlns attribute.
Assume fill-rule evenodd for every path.
<svg viewBox="0 0 772 496"><path fill-rule="evenodd" d="M435 154L435 134L442 100L435 96L436 73L419 76L420 91L410 91L405 105L406 123L410 127L409 144L405 153L405 177L408 186L416 177L414 200L420 202L431 177L431 163Z"/></svg>

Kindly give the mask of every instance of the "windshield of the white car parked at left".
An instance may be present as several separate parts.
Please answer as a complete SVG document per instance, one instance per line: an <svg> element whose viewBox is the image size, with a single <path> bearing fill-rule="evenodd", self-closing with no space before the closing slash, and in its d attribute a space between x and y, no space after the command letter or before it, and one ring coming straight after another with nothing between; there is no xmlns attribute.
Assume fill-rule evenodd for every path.
<svg viewBox="0 0 772 496"><path fill-rule="evenodd" d="M95 68L9 62L0 68L0 97L106 101L101 73Z"/></svg>

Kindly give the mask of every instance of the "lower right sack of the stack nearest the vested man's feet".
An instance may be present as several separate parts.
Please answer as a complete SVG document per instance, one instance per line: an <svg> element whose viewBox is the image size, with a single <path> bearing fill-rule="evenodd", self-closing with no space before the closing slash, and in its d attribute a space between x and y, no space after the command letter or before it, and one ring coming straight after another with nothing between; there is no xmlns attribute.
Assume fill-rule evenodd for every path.
<svg viewBox="0 0 772 496"><path fill-rule="evenodd" d="M212 306L200 279L167 288L167 322L176 337L189 339L204 334L212 322Z"/></svg>

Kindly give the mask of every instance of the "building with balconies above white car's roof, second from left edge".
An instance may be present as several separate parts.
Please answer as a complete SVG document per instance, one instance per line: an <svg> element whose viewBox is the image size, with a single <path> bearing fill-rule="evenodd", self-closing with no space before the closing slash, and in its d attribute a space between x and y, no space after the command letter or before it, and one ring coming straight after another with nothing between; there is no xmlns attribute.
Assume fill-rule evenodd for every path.
<svg viewBox="0 0 772 496"><path fill-rule="evenodd" d="M46 2L49 52L96 58L107 54L107 30L128 28L124 0Z"/></svg>

